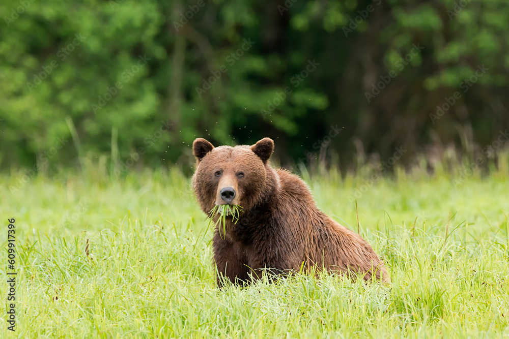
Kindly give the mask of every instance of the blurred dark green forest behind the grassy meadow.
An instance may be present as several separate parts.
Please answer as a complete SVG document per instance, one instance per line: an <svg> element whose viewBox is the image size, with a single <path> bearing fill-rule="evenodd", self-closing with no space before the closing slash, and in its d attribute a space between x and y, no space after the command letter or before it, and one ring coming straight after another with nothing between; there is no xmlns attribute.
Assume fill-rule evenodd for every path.
<svg viewBox="0 0 509 339"><path fill-rule="evenodd" d="M0 14L5 172L189 171L196 137L271 137L290 168L432 168L508 138L506 0L4 0Z"/></svg>

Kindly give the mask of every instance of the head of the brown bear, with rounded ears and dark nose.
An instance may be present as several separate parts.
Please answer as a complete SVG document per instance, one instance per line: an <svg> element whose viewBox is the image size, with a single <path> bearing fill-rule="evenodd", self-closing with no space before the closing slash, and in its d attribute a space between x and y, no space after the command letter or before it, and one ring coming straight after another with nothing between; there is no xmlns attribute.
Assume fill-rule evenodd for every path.
<svg viewBox="0 0 509 339"><path fill-rule="evenodd" d="M202 210L215 205L240 205L246 209L264 199L270 186L268 164L274 141L264 138L252 146L214 147L209 141L194 140L196 169L192 186Z"/></svg>

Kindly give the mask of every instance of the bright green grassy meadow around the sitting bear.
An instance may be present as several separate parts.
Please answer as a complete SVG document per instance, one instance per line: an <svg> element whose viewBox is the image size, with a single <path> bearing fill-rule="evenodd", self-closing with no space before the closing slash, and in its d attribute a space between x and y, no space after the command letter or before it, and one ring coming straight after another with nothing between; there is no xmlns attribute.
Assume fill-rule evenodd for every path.
<svg viewBox="0 0 509 339"><path fill-rule="evenodd" d="M357 196L392 283L296 274L224 290L188 177L85 172L0 177L0 242L15 218L18 250L16 332L3 312L2 337L509 337L507 165L484 177L305 172L318 206L355 231Z"/></svg>

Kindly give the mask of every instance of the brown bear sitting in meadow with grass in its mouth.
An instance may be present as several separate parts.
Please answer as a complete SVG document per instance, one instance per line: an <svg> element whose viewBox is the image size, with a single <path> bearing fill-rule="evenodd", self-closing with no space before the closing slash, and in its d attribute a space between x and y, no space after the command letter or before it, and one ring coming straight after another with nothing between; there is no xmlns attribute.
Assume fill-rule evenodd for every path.
<svg viewBox="0 0 509 339"><path fill-rule="evenodd" d="M313 267L389 282L369 243L319 210L298 176L270 166L273 150L269 138L235 147L214 147L202 138L193 142L192 187L202 210L209 214L215 205L243 207L238 219L230 215L224 231L221 226L214 232L218 286L225 278L248 284L260 279L263 270L273 277Z"/></svg>

